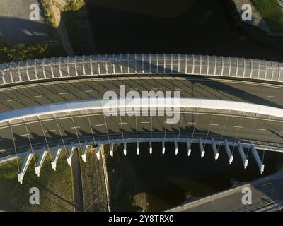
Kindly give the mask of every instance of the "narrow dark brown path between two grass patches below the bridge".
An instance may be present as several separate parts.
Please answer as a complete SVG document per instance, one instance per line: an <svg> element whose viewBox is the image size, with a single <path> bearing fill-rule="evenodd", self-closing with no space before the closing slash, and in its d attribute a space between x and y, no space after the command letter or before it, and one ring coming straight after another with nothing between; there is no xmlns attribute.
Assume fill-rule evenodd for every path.
<svg viewBox="0 0 283 226"><path fill-rule="evenodd" d="M73 172L73 182L74 182L74 204L76 212L83 212L83 186L81 184L81 166L79 162L78 151L74 152L71 159L71 169Z"/></svg>

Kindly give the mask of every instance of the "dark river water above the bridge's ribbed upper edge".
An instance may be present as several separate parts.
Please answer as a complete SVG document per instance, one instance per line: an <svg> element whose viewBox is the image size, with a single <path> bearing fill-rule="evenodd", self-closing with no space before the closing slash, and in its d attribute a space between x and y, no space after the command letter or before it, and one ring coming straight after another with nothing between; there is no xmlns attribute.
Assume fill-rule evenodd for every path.
<svg viewBox="0 0 283 226"><path fill-rule="evenodd" d="M236 28L226 10L227 1L155 0L152 5L153 1L147 0L121 0L120 4L115 4L116 0L87 0L86 3L100 54L215 54L282 61L280 49L260 44Z"/></svg>

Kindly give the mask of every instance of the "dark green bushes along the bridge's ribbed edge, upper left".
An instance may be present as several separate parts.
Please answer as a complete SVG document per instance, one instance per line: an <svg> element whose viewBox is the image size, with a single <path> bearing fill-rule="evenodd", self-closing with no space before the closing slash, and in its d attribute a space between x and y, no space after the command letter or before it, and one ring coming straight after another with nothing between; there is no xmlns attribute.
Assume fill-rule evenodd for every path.
<svg viewBox="0 0 283 226"><path fill-rule="evenodd" d="M64 56L65 52L59 42L43 42L35 44L16 44L11 46L0 42L0 55L8 61L23 61L43 57Z"/></svg>

